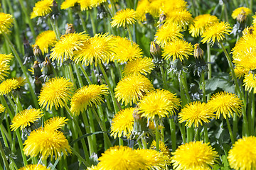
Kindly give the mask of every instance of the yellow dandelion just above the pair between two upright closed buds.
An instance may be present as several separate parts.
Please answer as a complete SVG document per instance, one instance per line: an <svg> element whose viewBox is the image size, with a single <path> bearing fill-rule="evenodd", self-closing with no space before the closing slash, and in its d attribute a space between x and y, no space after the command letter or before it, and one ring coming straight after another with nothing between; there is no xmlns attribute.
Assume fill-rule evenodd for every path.
<svg viewBox="0 0 256 170"><path fill-rule="evenodd" d="M183 8L175 8L167 13L164 11L164 14L166 15L166 22L177 23L184 29L187 28L188 24L193 23L192 14Z"/></svg>

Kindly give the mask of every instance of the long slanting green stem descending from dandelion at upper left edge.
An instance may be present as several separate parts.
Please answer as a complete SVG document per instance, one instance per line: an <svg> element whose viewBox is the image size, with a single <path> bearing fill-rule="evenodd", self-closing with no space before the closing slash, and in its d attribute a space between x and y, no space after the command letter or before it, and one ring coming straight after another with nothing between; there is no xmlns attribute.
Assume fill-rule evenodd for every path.
<svg viewBox="0 0 256 170"><path fill-rule="evenodd" d="M14 56L16 57L16 60L18 60L18 64L20 65L21 70L26 77L26 81L28 82L28 87L31 92L31 96L33 98L33 103L35 104L36 108L39 108L36 95L33 91L31 82L29 81L29 78L28 78L27 69L23 66L23 63L21 62L21 58L18 56L18 52L15 50L14 45L11 43L11 40L9 39L9 37L6 35L6 33L3 33L3 35L4 35L4 38L7 40L7 42L9 43L9 46L11 47L12 52L14 52Z"/></svg>

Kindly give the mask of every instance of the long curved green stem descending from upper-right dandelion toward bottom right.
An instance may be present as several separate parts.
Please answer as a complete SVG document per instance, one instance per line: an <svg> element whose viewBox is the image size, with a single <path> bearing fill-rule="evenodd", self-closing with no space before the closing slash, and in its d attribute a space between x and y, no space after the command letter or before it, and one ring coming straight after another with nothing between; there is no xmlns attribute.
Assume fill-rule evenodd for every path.
<svg viewBox="0 0 256 170"><path fill-rule="evenodd" d="M243 101L242 116L243 116L243 123L245 124L245 136L248 136L249 135L249 127L248 127L247 115L246 115L246 111L245 111L245 107L246 107L245 96L242 93L241 89L239 88L238 79L235 77L235 71L234 71L233 64L232 64L232 61L230 59L230 56L228 55L228 52L225 50L225 47L224 47L223 43L222 42L219 42L219 43L220 43L220 46L223 49L225 57L228 60L228 64L229 64L229 67L230 67L230 70L231 70L231 73L232 73L232 77L235 81L235 89L238 91L239 97L242 98L242 101Z"/></svg>

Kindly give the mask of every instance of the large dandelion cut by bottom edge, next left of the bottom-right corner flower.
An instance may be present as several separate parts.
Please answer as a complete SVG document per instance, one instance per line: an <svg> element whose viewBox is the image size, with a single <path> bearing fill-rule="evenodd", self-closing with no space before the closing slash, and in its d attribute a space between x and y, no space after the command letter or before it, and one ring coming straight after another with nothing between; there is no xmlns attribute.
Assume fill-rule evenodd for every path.
<svg viewBox="0 0 256 170"><path fill-rule="evenodd" d="M210 146L210 143L201 141L181 145L171 154L174 155L171 157L174 169L210 170L218 158L218 152Z"/></svg>

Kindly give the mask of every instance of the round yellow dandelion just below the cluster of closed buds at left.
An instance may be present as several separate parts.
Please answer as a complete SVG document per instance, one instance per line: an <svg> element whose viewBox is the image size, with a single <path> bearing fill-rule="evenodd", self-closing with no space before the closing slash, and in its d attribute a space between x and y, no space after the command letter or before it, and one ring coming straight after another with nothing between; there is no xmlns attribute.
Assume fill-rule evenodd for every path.
<svg viewBox="0 0 256 170"><path fill-rule="evenodd" d="M69 79L64 77L55 77L49 79L41 89L41 93L38 97L38 103L42 108L46 110L58 107L63 107L68 103L73 91L73 83Z"/></svg>

